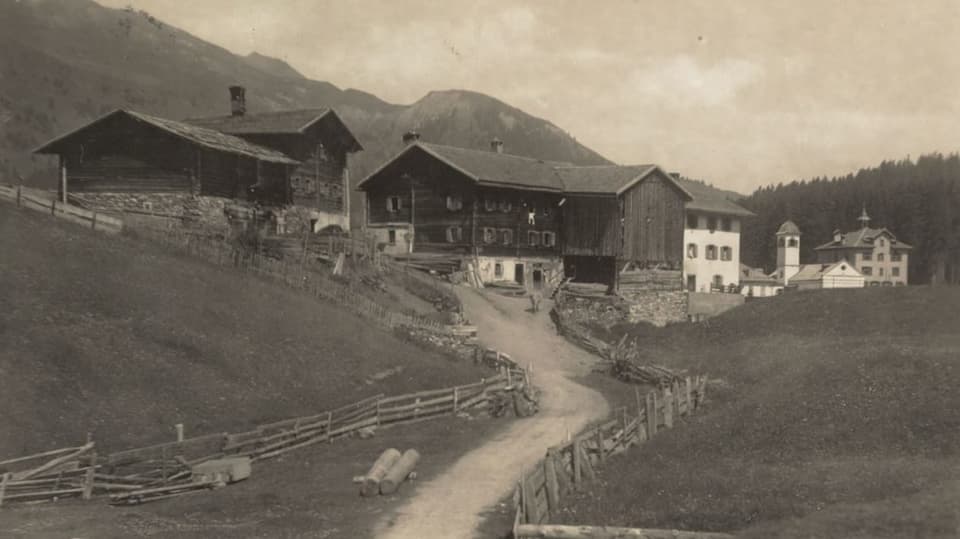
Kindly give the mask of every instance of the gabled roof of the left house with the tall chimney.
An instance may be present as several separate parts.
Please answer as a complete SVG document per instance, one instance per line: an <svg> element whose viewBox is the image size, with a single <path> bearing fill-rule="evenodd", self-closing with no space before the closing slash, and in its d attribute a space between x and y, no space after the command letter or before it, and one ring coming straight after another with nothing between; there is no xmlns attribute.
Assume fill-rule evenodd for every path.
<svg viewBox="0 0 960 539"><path fill-rule="evenodd" d="M333 119L343 127L343 131L349 135L351 140L352 151L363 149L340 116L329 108L189 118L184 121L231 135L299 135L324 118Z"/></svg>

